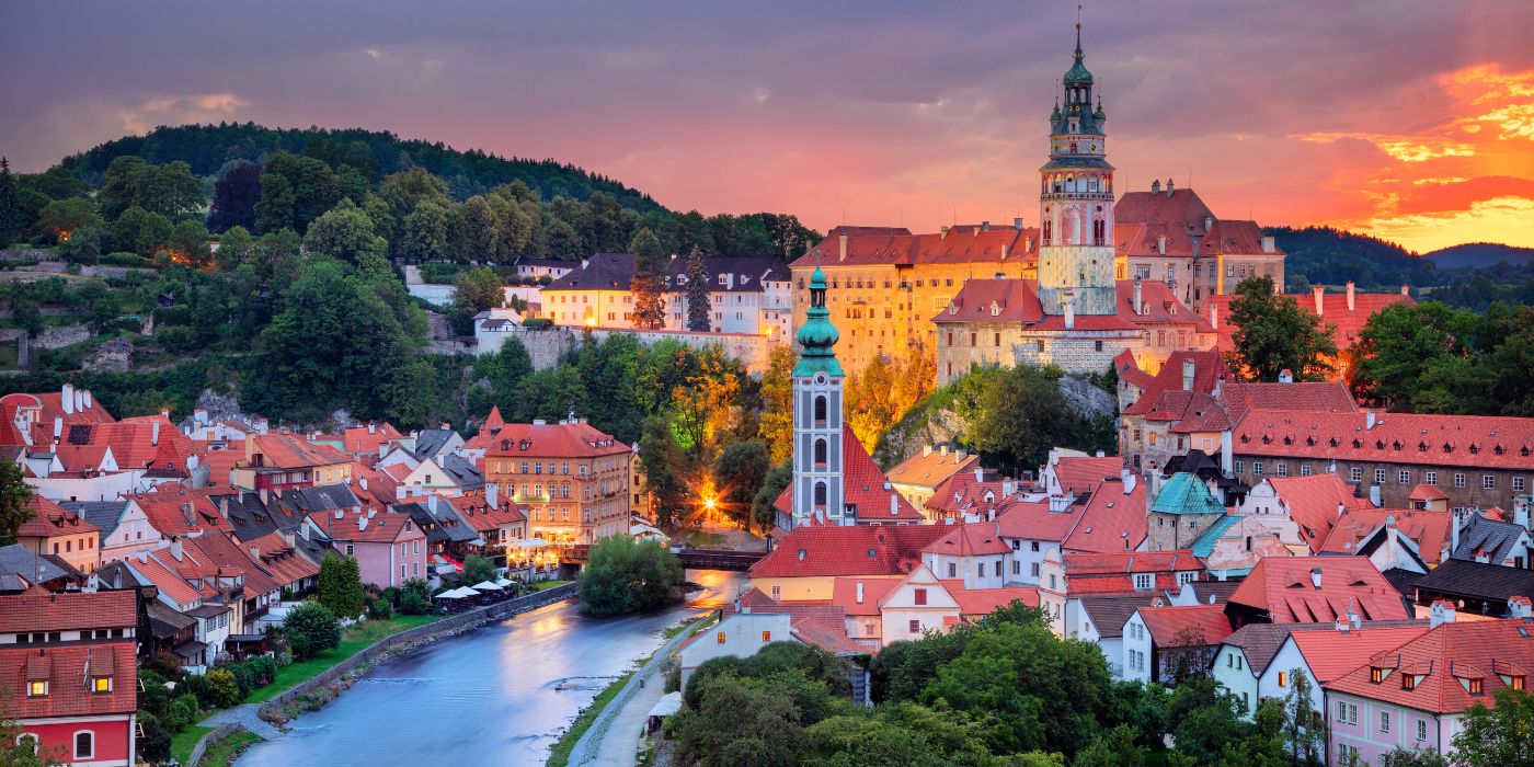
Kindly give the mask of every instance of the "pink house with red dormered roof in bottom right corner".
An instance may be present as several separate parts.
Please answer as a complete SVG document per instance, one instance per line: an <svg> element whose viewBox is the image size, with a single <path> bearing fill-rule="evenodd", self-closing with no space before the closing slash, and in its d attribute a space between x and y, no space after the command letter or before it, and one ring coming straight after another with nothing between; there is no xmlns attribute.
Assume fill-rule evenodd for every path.
<svg viewBox="0 0 1534 767"><path fill-rule="evenodd" d="M1433 604L1433 627L1378 652L1325 684L1330 762L1361 762L1397 747L1448 753L1471 706L1496 706L1497 690L1525 689L1534 669L1529 600L1513 597L1511 620L1454 623L1454 607Z"/></svg>

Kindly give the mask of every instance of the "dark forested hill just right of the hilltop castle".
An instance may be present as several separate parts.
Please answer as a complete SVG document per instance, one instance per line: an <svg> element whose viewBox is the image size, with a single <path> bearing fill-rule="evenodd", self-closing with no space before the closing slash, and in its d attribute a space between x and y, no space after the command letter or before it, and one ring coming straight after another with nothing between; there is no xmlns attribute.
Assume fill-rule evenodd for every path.
<svg viewBox="0 0 1534 767"><path fill-rule="evenodd" d="M1285 290L1358 284L1359 290L1394 290L1437 284L1437 265L1410 250L1368 235L1330 227L1269 227L1289 253Z"/></svg>

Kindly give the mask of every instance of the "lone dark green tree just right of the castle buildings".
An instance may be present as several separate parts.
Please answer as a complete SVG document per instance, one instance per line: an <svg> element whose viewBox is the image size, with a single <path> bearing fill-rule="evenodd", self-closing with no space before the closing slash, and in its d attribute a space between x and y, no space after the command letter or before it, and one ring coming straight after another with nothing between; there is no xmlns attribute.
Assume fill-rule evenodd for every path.
<svg viewBox="0 0 1534 767"><path fill-rule="evenodd" d="M1273 278L1243 279L1230 301L1235 327L1230 367L1253 380L1278 380L1289 370L1295 380L1325 380L1338 356L1333 325L1273 287Z"/></svg>

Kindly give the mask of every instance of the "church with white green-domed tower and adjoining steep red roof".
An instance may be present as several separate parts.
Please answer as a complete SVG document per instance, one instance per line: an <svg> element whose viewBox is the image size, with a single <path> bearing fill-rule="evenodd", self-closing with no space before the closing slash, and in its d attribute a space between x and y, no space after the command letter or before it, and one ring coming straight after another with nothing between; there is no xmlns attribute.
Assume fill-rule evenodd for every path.
<svg viewBox="0 0 1534 767"><path fill-rule="evenodd" d="M922 515L879 471L844 417L847 374L827 308L825 273L810 275L810 308L793 367L793 482L778 499L778 526L919 525Z"/></svg>

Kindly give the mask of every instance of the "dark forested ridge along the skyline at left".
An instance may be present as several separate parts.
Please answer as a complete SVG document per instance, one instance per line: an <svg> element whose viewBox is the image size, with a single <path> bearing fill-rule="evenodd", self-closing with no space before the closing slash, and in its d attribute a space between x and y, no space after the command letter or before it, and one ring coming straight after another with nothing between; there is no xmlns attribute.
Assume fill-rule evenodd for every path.
<svg viewBox="0 0 1534 767"><path fill-rule="evenodd" d="M640 213L661 209L637 189L554 160L506 160L479 149L457 150L440 141L403 140L394 133L364 129L276 129L255 123L156 127L149 135L123 137L71 155L60 166L92 186L101 186L107 166L124 155L137 155L156 166L179 160L192 166L192 173L207 178L219 175L229 163L261 161L278 150L321 160L364 156L371 161L374 179L423 167L446 181L457 199L522 179L543 199L588 199L592 192L606 192L623 207Z"/></svg>

